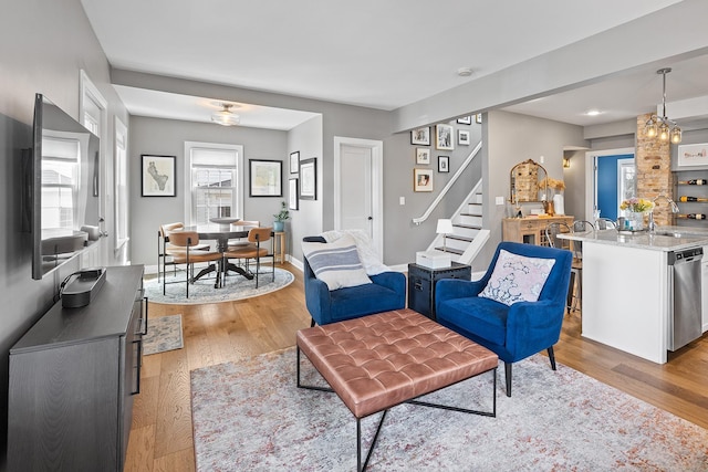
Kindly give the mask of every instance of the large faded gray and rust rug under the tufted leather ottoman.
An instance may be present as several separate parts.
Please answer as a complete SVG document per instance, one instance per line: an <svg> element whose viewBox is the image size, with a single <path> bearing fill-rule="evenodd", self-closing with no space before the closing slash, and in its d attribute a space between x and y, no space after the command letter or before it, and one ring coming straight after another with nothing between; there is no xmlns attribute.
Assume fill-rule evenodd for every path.
<svg viewBox="0 0 708 472"><path fill-rule="evenodd" d="M308 381L323 381L301 365ZM708 470L708 431L688 421L563 365L553 371L541 355L514 365L508 398L500 367L497 418L395 407L368 470ZM491 381L483 374L434 395L486 409ZM199 471L356 469L354 417L336 395L296 388L294 348L194 370L191 395ZM363 420L363 438L378 419Z"/></svg>

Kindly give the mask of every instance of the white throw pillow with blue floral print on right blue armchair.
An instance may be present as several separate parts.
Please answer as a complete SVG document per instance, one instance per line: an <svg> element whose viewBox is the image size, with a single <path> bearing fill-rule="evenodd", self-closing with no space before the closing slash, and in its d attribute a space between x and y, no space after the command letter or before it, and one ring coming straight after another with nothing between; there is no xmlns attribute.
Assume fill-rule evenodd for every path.
<svg viewBox="0 0 708 472"><path fill-rule="evenodd" d="M554 264L555 259L527 258L502 249L491 277L479 296L504 305L535 302Z"/></svg>

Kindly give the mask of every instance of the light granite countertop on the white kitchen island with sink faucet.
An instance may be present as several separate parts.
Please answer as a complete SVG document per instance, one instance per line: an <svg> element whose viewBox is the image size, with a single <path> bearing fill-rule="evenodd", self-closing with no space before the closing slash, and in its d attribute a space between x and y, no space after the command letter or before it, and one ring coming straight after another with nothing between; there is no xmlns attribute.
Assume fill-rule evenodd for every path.
<svg viewBox="0 0 708 472"><path fill-rule="evenodd" d="M563 233L558 237L573 241L623 245L664 252L708 245L708 230L688 227L657 227L655 234L649 234L648 232L621 234L616 230L598 230Z"/></svg>

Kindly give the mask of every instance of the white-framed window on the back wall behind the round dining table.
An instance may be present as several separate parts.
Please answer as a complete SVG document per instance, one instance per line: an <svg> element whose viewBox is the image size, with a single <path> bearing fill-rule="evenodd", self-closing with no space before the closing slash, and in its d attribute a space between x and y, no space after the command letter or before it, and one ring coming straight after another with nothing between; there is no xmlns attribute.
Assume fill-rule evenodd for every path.
<svg viewBox="0 0 708 472"><path fill-rule="evenodd" d="M211 218L242 218L242 147L187 143L188 186L186 218L190 224L205 224Z"/></svg>

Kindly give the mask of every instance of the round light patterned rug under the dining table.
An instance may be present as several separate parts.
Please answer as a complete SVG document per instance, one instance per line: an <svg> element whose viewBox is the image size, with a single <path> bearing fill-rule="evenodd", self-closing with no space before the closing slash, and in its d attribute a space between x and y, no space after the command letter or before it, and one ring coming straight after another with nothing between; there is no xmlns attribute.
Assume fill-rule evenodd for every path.
<svg viewBox="0 0 708 472"><path fill-rule="evenodd" d="M167 282L184 281L184 272L177 273L177 277L168 273ZM148 301L154 303L179 305L232 302L275 292L290 285L294 280L295 276L287 270L275 268L275 280L273 281L270 268L268 268L259 275L258 289L256 289L256 279L249 281L238 274L229 274L226 277L226 285L221 289L215 289L214 276L208 276L189 285L189 298L187 298L184 282L168 283L166 294L163 295L163 282L162 280L157 282L157 276L155 276L145 280L145 295Z"/></svg>

